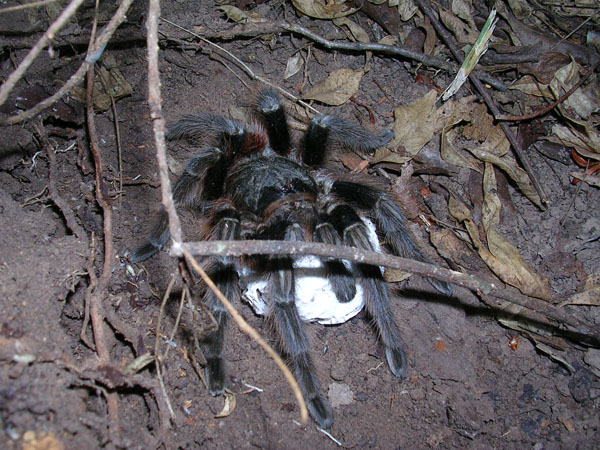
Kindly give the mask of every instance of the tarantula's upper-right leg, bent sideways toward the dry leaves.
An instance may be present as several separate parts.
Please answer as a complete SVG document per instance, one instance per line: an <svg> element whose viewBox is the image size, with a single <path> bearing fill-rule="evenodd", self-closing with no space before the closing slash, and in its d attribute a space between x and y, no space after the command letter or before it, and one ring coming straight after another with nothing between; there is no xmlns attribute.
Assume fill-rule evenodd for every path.
<svg viewBox="0 0 600 450"><path fill-rule="evenodd" d="M373 134L337 116L321 115L310 121L304 140L302 160L309 166L320 166L330 141L359 152L371 153L392 140L394 132Z"/></svg>

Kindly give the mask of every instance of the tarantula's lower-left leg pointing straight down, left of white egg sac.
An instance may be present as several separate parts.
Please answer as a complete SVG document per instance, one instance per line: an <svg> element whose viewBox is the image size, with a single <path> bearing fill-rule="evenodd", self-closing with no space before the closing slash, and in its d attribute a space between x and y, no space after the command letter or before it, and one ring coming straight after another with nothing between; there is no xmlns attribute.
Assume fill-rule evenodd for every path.
<svg viewBox="0 0 600 450"><path fill-rule="evenodd" d="M219 211L213 217L212 240L233 241L240 238L240 217L233 209ZM240 297L240 285L237 271L237 259L217 257L207 270L208 275L227 299L235 303ZM223 393L225 387L225 360L223 342L227 326L227 310L211 289L206 290L204 304L215 318L218 328L203 338L204 357L206 359L206 383L212 395Z"/></svg>

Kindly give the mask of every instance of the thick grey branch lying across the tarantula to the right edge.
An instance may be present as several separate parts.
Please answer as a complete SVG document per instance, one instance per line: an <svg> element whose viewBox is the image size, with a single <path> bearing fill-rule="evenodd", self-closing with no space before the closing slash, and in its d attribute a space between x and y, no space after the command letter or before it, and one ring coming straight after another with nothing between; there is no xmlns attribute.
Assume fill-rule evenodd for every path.
<svg viewBox="0 0 600 450"><path fill-rule="evenodd" d="M398 256L317 242L288 241L206 241L186 242L186 253L196 256L246 256L246 255L315 255L350 262L402 269L424 277L435 278L465 287L475 292L497 297L542 314L559 324L569 325L572 333L589 336L600 342L600 333L583 322L563 314L550 303L509 291L503 285L477 278L473 275L444 269Z"/></svg>

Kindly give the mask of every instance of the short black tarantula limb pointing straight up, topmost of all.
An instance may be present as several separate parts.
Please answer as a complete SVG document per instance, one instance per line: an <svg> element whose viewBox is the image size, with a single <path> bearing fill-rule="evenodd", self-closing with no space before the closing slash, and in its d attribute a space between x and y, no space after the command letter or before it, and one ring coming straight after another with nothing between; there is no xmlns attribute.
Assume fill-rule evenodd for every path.
<svg viewBox="0 0 600 450"><path fill-rule="evenodd" d="M265 89L260 93L258 111L267 129L271 148L278 155L287 155L291 148L290 130L283 104L273 89Z"/></svg>

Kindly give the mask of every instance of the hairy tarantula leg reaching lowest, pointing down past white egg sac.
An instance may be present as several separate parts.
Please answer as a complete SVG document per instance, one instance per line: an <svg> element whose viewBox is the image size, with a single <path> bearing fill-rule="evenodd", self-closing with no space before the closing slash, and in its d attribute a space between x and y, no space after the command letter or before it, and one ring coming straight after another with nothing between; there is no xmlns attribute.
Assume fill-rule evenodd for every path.
<svg viewBox="0 0 600 450"><path fill-rule="evenodd" d="M303 240L302 228L290 225L284 239ZM333 411L321 395L319 381L314 374L310 356L310 341L304 331L304 323L296 308L296 288L291 258L270 260L270 319L280 338L282 352L290 358L292 370L300 385L311 416L323 428L333 424Z"/></svg>

